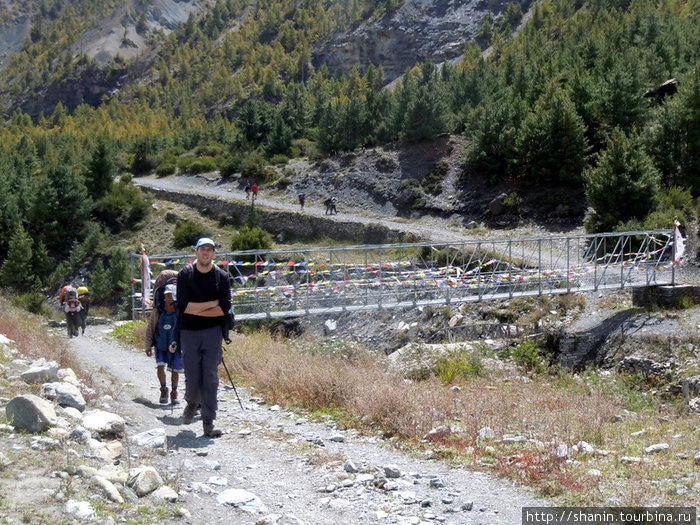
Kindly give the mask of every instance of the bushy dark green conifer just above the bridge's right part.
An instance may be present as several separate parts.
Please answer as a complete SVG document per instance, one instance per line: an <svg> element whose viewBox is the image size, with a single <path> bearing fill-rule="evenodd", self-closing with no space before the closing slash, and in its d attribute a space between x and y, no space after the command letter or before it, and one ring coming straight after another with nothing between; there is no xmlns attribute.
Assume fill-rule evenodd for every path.
<svg viewBox="0 0 700 525"><path fill-rule="evenodd" d="M584 178L594 211L586 223L589 231L611 231L631 219L642 220L659 202L659 172L639 141L617 128L598 164Z"/></svg>

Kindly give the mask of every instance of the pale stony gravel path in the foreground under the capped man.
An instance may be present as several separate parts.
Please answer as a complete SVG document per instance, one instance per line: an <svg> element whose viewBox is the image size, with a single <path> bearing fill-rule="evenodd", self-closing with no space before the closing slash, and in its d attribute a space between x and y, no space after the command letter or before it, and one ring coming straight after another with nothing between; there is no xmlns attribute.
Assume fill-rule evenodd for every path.
<svg viewBox="0 0 700 525"><path fill-rule="evenodd" d="M201 422L181 424L158 397L152 358L125 348L111 327L70 340L98 383L110 385L127 433L164 428L167 453L131 446L132 461L152 464L186 508L172 523L489 524L520 523L523 506L547 502L488 474L396 452L375 437L312 422L268 406L222 381L219 439ZM126 447L125 447L126 451ZM162 522L162 521L161 521Z"/></svg>

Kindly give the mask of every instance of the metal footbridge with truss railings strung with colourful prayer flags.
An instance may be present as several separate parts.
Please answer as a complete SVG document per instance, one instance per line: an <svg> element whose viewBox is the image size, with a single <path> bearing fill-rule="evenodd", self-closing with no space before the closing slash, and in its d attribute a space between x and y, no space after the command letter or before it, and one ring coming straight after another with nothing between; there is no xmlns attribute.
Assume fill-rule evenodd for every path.
<svg viewBox="0 0 700 525"><path fill-rule="evenodd" d="M150 255L153 274L193 254ZM141 307L132 255L132 310ZM240 320L675 284L672 230L217 252Z"/></svg>

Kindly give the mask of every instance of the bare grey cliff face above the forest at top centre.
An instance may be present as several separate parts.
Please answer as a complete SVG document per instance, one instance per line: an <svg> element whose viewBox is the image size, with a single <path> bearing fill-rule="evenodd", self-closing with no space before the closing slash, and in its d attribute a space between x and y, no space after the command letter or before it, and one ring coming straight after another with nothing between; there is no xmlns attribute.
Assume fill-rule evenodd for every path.
<svg viewBox="0 0 700 525"><path fill-rule="evenodd" d="M388 81L417 62L441 63L461 58L464 45L479 31L488 12L505 10L507 0L406 0L381 20L361 24L325 39L316 49L314 66L334 73L363 71L381 64Z"/></svg>

